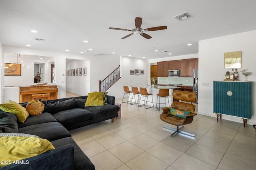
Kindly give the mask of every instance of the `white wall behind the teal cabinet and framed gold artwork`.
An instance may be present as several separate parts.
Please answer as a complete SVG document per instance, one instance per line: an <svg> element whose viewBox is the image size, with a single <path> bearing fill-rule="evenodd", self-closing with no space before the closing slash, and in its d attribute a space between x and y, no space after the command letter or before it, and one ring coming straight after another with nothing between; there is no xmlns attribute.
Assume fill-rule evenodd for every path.
<svg viewBox="0 0 256 170"><path fill-rule="evenodd" d="M198 83L198 112L202 115L216 117L212 112L212 93L214 80L223 80L226 71L224 69L224 53L232 51L242 51L242 68L238 68L238 79L244 80L244 76L240 70L248 68L248 72L252 72L248 76L248 81L256 80L256 30L223 37L216 37L199 41L199 83ZM209 83L209 86L202 86L202 83ZM253 105L255 104L256 83L253 84ZM248 120L248 124L256 124L256 107L253 106L252 119ZM223 115L222 119L238 121L242 123L241 118Z"/></svg>

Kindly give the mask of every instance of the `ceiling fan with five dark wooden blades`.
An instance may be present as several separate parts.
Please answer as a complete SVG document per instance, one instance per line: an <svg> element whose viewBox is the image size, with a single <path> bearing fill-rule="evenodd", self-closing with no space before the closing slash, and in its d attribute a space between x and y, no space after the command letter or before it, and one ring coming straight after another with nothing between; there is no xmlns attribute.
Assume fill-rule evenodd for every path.
<svg viewBox="0 0 256 170"><path fill-rule="evenodd" d="M159 26L159 27L151 27L151 28L143 29L142 27L140 27L141 24L142 24L142 18L136 17L135 18L135 28L132 29L132 30L122 29L122 28L113 28L113 27L109 27L109 29L117 29L117 30L122 30L122 31L132 31L132 33L122 37L122 39L130 37L133 34L140 34L142 37L144 37L146 39L150 39L152 37L150 35L144 33L145 31L157 31L157 30L167 29L167 26Z"/></svg>

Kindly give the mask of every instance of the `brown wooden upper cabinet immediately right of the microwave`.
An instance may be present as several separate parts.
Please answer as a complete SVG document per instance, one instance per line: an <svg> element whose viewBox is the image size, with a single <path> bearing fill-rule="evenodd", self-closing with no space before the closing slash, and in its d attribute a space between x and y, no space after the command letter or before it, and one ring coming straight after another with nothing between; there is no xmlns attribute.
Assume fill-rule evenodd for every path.
<svg viewBox="0 0 256 170"><path fill-rule="evenodd" d="M193 69L196 69L196 59L180 60L180 76L192 77Z"/></svg>

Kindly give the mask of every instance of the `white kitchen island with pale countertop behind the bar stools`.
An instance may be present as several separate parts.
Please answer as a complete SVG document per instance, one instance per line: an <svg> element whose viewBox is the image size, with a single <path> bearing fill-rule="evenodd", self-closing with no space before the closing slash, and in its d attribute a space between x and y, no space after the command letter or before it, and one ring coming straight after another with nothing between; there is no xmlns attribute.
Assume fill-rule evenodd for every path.
<svg viewBox="0 0 256 170"><path fill-rule="evenodd" d="M131 87L129 87L131 89ZM143 87L146 88L148 93L152 93L153 94L153 102L154 102L154 106L156 106L156 99L157 99L157 94L159 92L160 89L169 89L169 102L170 104L172 104L173 102L173 97L172 97L172 92L174 89L180 88L177 86L159 86L159 85L154 85L154 86L146 86ZM140 87L138 87L138 90L140 91ZM137 99L136 99L137 100ZM151 97L148 98L148 101L151 101ZM160 103L164 103L165 99L160 99ZM167 101L168 102L168 101ZM144 101L140 101L140 104L144 104ZM152 106L152 103L148 103L148 105ZM166 104L166 106L168 106L168 104ZM165 104L160 104L160 107L165 107Z"/></svg>

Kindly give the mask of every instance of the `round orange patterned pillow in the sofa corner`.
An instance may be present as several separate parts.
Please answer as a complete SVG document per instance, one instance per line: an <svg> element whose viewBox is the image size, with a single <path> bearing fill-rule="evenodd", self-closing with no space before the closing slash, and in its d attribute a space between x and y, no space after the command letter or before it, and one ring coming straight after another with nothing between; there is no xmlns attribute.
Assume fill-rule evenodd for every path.
<svg viewBox="0 0 256 170"><path fill-rule="evenodd" d="M26 109L32 116L40 115L44 111L44 104L39 100L31 100L26 105Z"/></svg>

